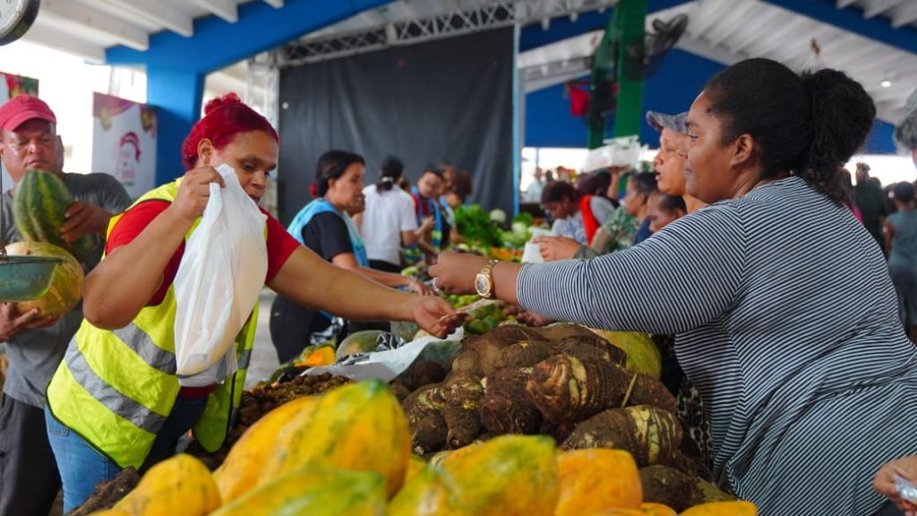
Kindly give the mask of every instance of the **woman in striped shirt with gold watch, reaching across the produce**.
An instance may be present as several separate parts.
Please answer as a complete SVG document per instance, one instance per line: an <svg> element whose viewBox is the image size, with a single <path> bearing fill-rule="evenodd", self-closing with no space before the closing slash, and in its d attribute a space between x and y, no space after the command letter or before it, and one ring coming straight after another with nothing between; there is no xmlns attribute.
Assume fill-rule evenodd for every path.
<svg viewBox="0 0 917 516"><path fill-rule="evenodd" d="M875 112L844 73L738 62L688 117L687 191L710 207L594 260L450 255L431 274L557 320L676 334L722 487L763 516L873 514L878 466L917 453L917 348L837 174Z"/></svg>

